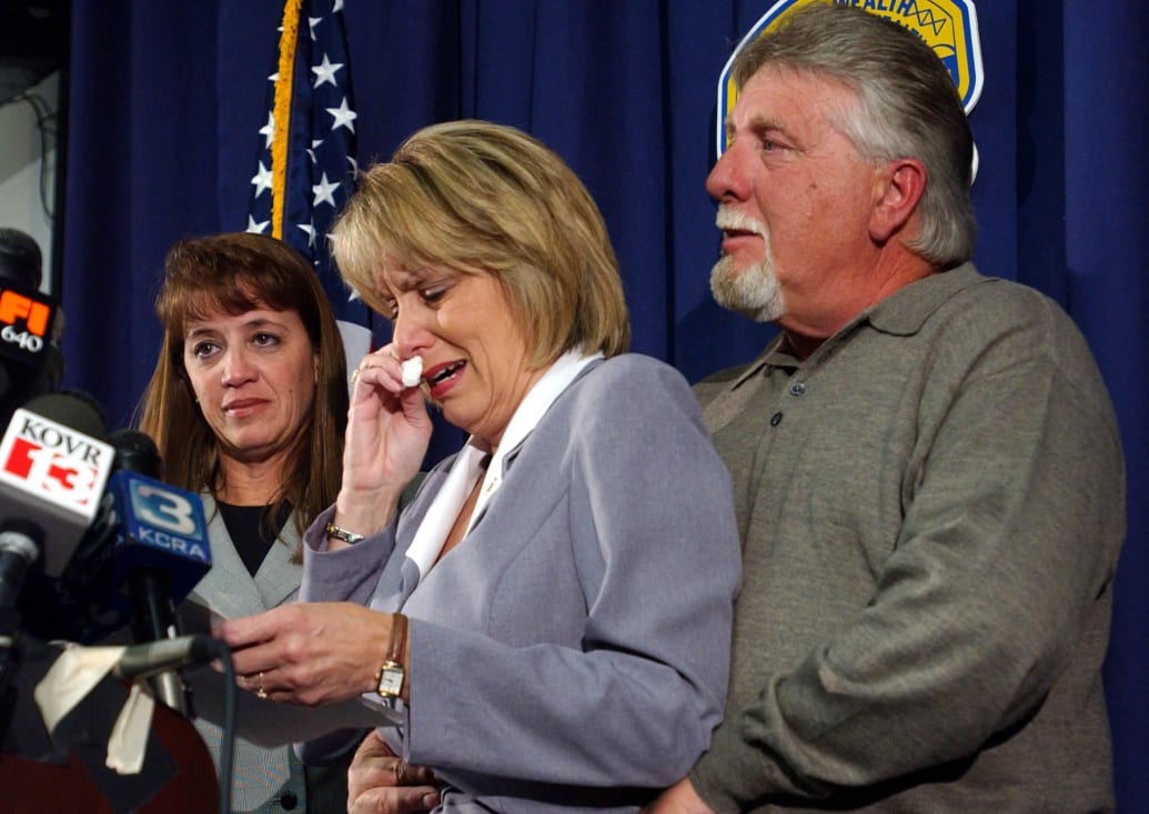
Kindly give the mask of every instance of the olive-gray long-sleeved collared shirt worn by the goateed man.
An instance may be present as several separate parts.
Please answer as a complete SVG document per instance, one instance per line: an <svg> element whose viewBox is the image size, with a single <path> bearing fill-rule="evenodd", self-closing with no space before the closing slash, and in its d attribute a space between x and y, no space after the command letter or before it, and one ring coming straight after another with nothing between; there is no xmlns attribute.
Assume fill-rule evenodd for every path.
<svg viewBox="0 0 1149 814"><path fill-rule="evenodd" d="M1051 300L970 266L695 387L743 543L718 812L1105 811L1125 482ZM794 799L796 798L796 799Z"/></svg>

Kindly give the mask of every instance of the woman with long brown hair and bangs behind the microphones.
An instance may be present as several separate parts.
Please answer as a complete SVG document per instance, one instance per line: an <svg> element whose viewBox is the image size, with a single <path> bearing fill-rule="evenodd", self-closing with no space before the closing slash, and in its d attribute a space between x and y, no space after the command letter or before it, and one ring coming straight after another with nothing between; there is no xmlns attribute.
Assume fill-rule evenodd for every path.
<svg viewBox="0 0 1149 814"><path fill-rule="evenodd" d="M339 491L347 375L315 271L247 232L177 243L156 300L163 347L140 429L167 481L203 499L211 570L190 599L231 619L295 598L300 536ZM221 730L195 722L218 767ZM290 747L236 738L236 811L341 811L346 761L306 769Z"/></svg>

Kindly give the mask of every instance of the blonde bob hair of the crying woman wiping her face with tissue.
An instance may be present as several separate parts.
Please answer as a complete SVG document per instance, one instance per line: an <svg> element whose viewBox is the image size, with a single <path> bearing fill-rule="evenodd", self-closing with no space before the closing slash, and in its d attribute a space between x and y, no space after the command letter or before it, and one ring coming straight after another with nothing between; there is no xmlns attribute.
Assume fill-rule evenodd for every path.
<svg viewBox="0 0 1149 814"><path fill-rule="evenodd" d="M491 274L539 368L566 351L630 344L618 261L602 215L563 160L514 128L435 124L367 169L332 230L345 282L380 314L379 275L446 267Z"/></svg>

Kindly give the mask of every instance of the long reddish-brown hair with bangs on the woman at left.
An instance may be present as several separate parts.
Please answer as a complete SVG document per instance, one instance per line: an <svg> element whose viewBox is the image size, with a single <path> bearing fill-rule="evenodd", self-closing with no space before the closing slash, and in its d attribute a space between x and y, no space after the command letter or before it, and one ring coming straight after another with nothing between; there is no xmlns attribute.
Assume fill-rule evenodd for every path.
<svg viewBox="0 0 1149 814"><path fill-rule="evenodd" d="M140 430L155 440L169 483L215 496L224 484L219 445L184 367L190 322L254 308L294 310L318 360L311 413L282 474L272 506L287 502L300 532L336 500L347 425L347 362L334 314L310 263L280 240L233 232L180 240L164 261L155 313L163 347L140 406Z"/></svg>

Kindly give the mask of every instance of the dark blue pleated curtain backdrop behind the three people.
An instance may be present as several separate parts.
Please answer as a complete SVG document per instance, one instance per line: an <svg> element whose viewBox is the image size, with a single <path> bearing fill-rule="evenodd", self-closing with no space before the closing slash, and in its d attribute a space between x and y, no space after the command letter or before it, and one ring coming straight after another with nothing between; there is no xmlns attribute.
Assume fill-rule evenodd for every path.
<svg viewBox="0 0 1149 814"><path fill-rule="evenodd" d="M634 350L691 381L770 333L717 308L703 190L716 82L773 0L346 0L360 163L431 122L481 117L557 149L599 201ZM1061 301L1117 406L1129 531L1106 686L1119 807L1149 799L1149 6L978 3L971 121L982 271ZM246 225L282 0L75 0L63 300L67 386L124 425L160 347L152 313L177 238ZM437 441L433 454L457 444ZM848 454L848 451L843 451ZM961 711L955 711L961 714Z"/></svg>

